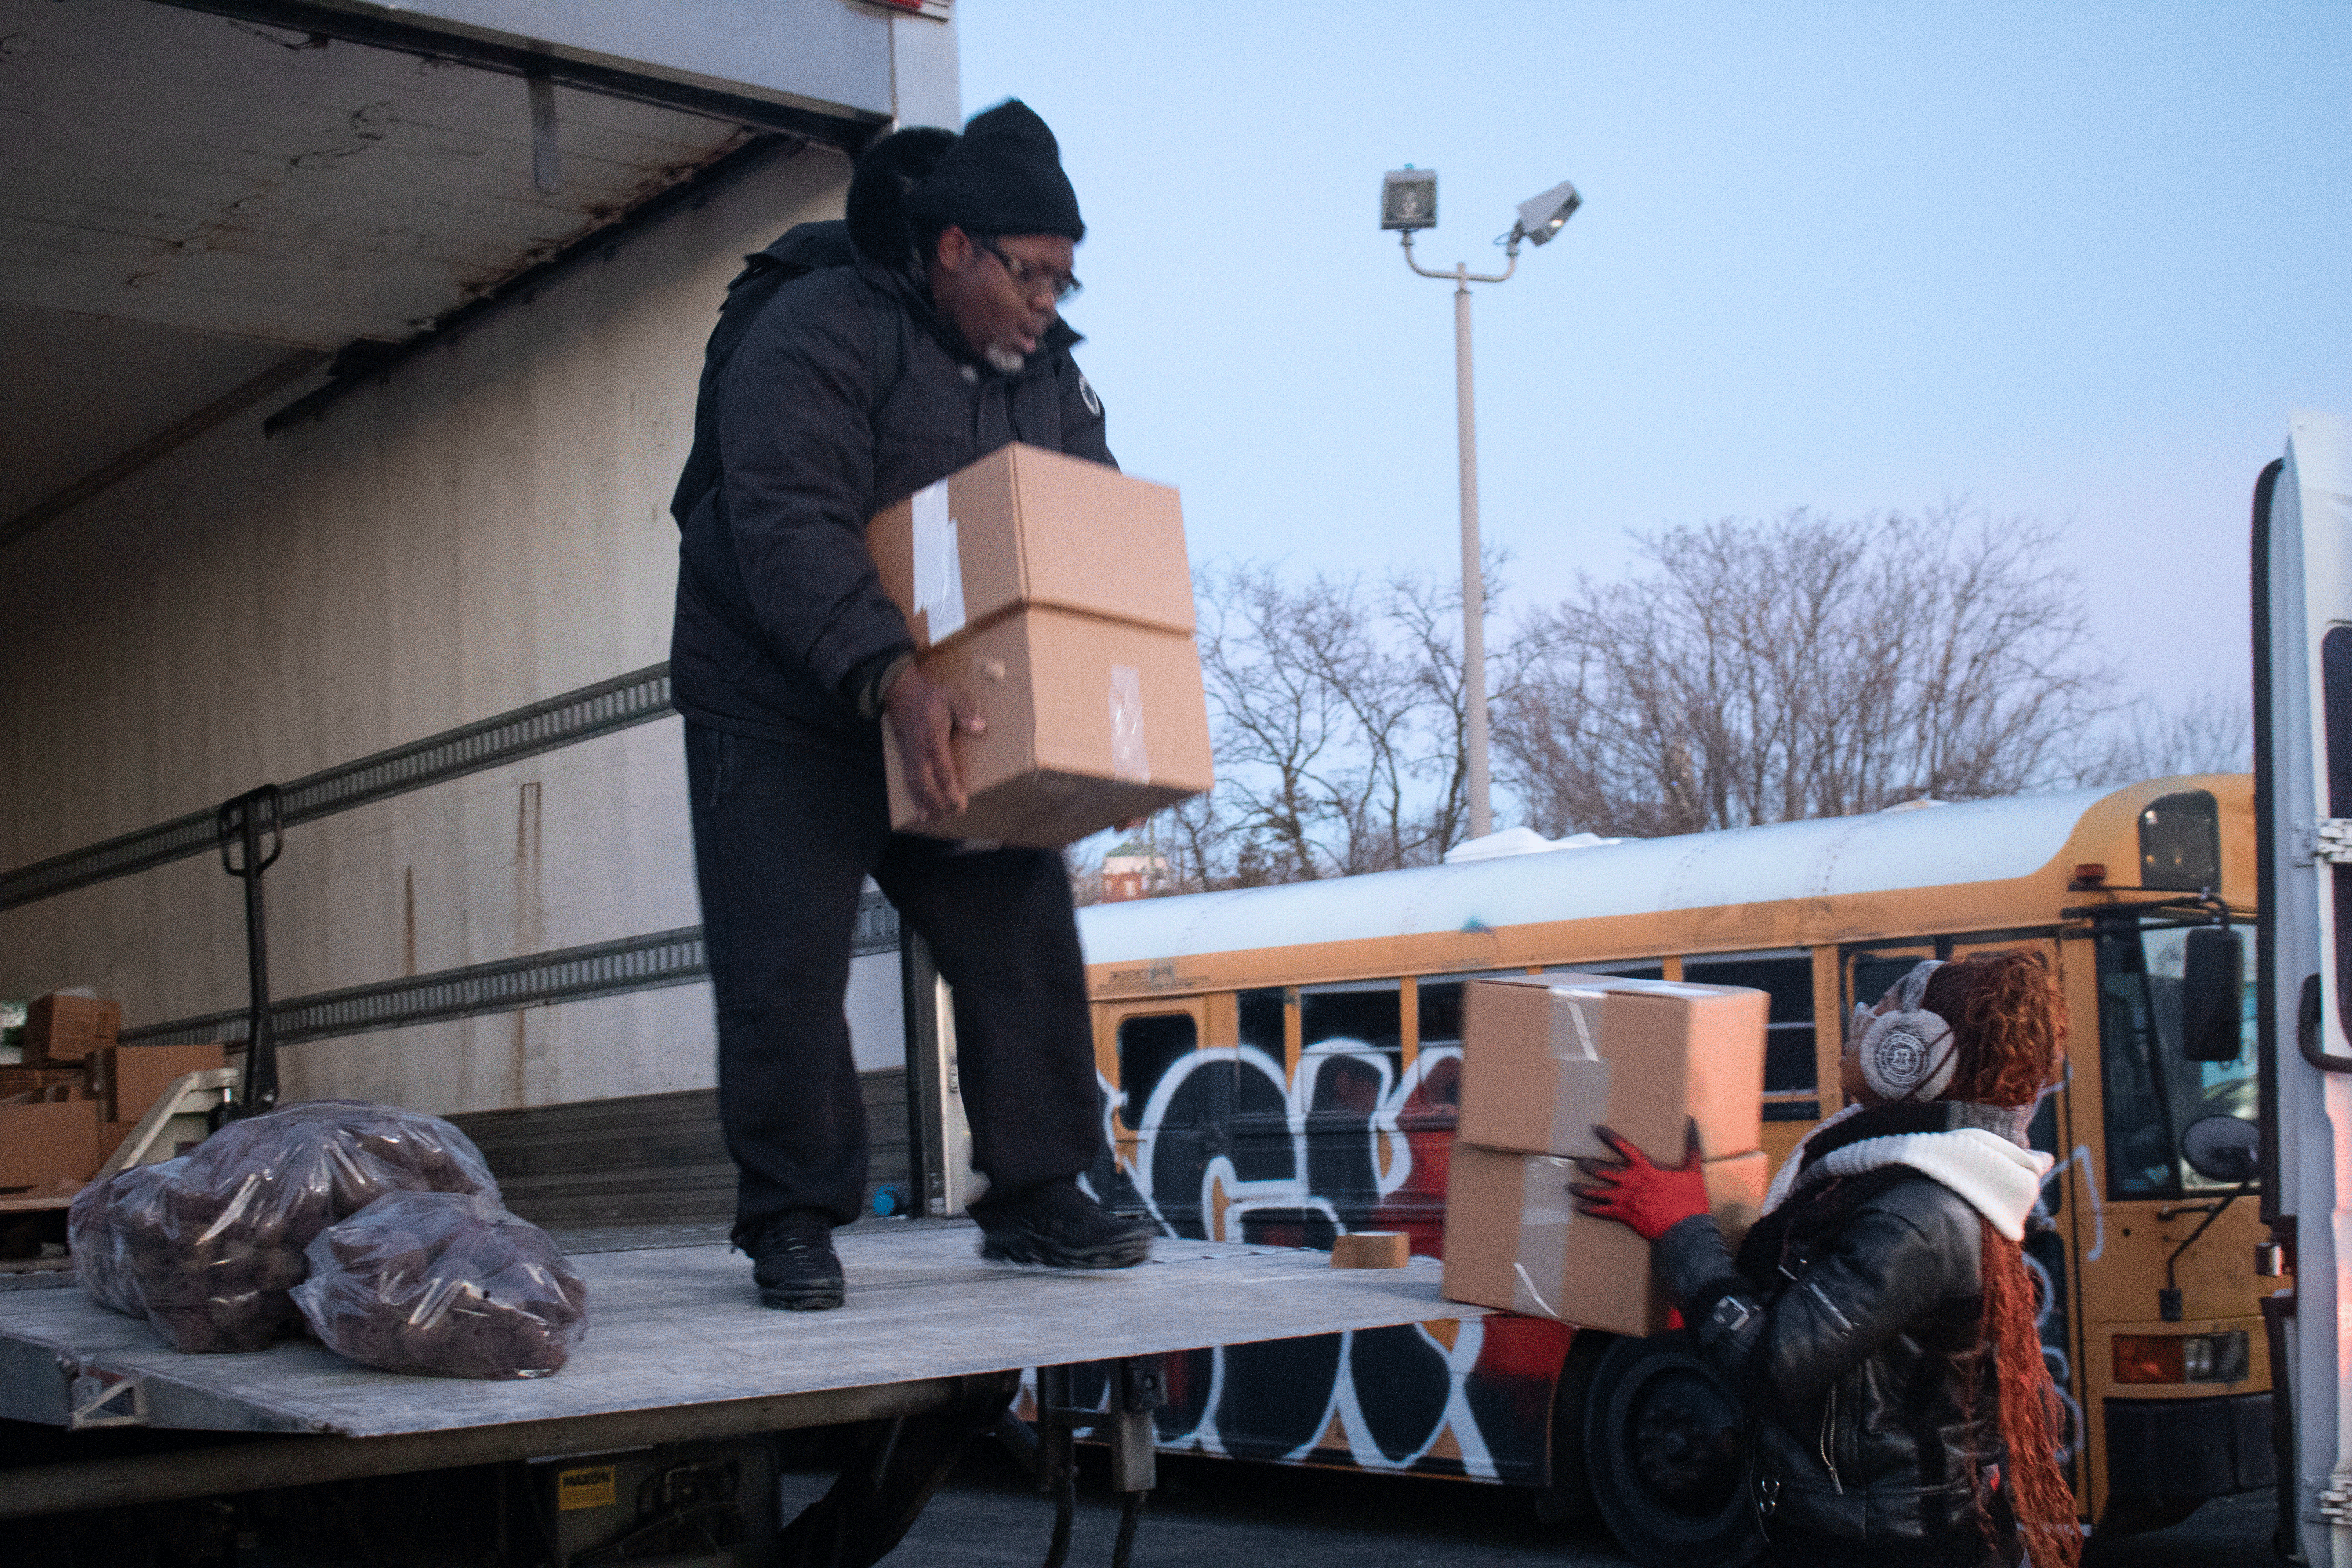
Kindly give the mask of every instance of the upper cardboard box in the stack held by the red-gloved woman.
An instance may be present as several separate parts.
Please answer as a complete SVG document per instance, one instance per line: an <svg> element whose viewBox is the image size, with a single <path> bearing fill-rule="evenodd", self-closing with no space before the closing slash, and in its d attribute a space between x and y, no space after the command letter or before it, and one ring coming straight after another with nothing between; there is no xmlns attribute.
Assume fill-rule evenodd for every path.
<svg viewBox="0 0 2352 1568"><path fill-rule="evenodd" d="M1463 1006L1463 1143L1606 1159L1599 1121L1679 1166L1686 1119L1705 1159L1764 1140L1759 990L1529 976L1472 980Z"/></svg>

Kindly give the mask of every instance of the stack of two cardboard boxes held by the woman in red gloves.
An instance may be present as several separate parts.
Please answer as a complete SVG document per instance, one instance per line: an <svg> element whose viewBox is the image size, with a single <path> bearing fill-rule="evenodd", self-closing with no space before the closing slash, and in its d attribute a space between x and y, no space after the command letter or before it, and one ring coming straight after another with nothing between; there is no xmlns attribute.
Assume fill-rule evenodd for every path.
<svg viewBox="0 0 2352 1568"><path fill-rule="evenodd" d="M1576 1159L1613 1159L1595 1124L1679 1166L1696 1121L1708 1201L1731 1246L1771 1178L1762 1143L1771 999L1729 985L1531 976L1475 980L1446 1180L1451 1300L1649 1335L1668 1302L1649 1244L1576 1213Z"/></svg>

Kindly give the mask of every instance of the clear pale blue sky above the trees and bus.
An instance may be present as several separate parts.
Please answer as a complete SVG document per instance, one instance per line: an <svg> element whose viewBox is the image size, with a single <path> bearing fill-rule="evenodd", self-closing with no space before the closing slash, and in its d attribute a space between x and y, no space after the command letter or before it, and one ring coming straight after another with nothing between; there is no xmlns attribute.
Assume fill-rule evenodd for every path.
<svg viewBox="0 0 2352 1568"><path fill-rule="evenodd" d="M1508 607L1625 529L1922 508L2067 524L2164 696L2246 677L2246 505L2352 414L2352 5L957 5L964 108L1028 99L1087 212L1070 322L1195 562L1454 571L1446 284L1477 292Z"/></svg>

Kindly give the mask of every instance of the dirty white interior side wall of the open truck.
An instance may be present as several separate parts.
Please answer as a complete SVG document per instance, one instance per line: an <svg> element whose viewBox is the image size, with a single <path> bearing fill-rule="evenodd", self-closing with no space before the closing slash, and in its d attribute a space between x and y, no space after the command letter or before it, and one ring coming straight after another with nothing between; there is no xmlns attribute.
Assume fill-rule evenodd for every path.
<svg viewBox="0 0 2352 1568"><path fill-rule="evenodd" d="M266 440L254 409L0 552L0 865L663 661L713 310L743 252L840 212L847 172L779 155L322 418ZM696 924L677 729L294 825L273 994ZM127 1027L242 1006L242 954L209 856L0 912L0 994L92 985ZM292 1093L449 1112L710 1072L706 985L285 1053Z"/></svg>

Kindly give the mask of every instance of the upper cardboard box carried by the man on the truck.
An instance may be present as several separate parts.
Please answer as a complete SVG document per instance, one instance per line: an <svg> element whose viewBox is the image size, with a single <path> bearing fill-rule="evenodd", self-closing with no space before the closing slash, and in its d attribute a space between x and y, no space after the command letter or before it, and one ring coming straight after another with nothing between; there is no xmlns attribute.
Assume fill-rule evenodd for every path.
<svg viewBox="0 0 2352 1568"><path fill-rule="evenodd" d="M866 527L882 590L929 649L1023 604L1192 635L1183 505L1167 484L1002 447Z"/></svg>

